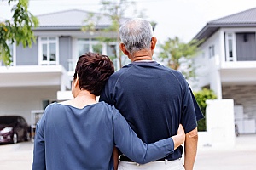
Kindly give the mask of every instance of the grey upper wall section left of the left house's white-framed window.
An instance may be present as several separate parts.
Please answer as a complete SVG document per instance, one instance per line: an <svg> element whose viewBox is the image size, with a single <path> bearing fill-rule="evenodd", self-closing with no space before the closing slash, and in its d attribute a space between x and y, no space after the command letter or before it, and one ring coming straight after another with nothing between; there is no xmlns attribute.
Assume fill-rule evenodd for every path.
<svg viewBox="0 0 256 170"><path fill-rule="evenodd" d="M31 48L16 47L16 65L38 65L38 40Z"/></svg>

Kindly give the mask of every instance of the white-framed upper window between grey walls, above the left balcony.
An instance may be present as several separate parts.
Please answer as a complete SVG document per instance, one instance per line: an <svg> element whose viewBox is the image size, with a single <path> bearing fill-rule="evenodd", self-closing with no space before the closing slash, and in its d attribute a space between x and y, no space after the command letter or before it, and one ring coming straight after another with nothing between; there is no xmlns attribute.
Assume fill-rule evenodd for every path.
<svg viewBox="0 0 256 170"><path fill-rule="evenodd" d="M58 63L58 38L38 38L39 65L57 65Z"/></svg>

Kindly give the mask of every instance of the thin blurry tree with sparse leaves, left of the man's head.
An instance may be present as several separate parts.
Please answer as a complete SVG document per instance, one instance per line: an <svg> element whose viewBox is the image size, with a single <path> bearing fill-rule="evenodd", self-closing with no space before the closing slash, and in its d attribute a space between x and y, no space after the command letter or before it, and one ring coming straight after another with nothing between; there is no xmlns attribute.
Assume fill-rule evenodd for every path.
<svg viewBox="0 0 256 170"><path fill-rule="evenodd" d="M111 20L111 26L98 31L99 36L97 39L100 42L105 42L112 48L112 52L114 56L109 56L111 59L119 60L119 68L124 64L124 60L122 58L122 52L117 50L118 47L113 45L113 43L120 42L119 38L119 27L122 20L125 19L125 12L129 7L134 8L136 3L134 1L129 0L102 0L101 1L101 13L90 13L89 16L84 20L84 26L82 27L82 31L88 32L96 32L97 23L102 19L102 17L108 17ZM134 10L133 16L137 15L137 17L142 17L143 13L137 14L137 11ZM132 14L131 14L132 15ZM155 23L154 23L155 24Z"/></svg>

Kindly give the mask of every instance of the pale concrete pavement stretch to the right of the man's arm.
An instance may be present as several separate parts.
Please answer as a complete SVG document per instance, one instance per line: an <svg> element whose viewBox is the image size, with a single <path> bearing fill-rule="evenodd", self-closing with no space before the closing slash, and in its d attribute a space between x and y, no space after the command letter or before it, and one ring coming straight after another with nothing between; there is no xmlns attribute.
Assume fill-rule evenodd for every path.
<svg viewBox="0 0 256 170"><path fill-rule="evenodd" d="M255 170L256 135L236 137L232 149L200 148L195 161L195 170Z"/></svg>

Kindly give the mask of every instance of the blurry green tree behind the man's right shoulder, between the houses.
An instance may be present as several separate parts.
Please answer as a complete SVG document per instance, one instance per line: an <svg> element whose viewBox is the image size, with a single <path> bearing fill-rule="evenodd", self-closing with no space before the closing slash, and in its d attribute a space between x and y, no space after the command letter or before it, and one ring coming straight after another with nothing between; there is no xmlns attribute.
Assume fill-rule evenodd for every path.
<svg viewBox="0 0 256 170"><path fill-rule="evenodd" d="M195 80L193 57L199 53L198 46L201 42L194 39L184 43L178 37L169 37L166 42L160 44L160 59L166 61L170 68L181 71L187 80Z"/></svg>

